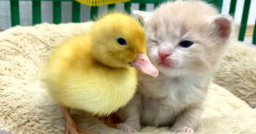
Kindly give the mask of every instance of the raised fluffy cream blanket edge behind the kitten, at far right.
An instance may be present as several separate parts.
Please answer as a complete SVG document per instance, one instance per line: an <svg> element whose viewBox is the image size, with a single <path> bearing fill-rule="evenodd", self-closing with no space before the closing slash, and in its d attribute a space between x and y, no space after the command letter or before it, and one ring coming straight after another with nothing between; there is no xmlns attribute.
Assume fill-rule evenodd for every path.
<svg viewBox="0 0 256 134"><path fill-rule="evenodd" d="M256 49L231 43L228 54L214 75L214 83L256 108Z"/></svg>

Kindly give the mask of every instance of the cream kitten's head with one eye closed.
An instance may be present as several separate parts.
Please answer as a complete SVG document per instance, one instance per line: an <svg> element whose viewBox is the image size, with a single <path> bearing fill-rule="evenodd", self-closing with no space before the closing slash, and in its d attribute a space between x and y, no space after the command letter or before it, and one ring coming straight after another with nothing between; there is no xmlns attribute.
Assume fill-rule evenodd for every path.
<svg viewBox="0 0 256 134"><path fill-rule="evenodd" d="M145 24L147 53L160 72L213 70L227 46L232 17L202 1L174 1L155 12L133 11Z"/></svg>

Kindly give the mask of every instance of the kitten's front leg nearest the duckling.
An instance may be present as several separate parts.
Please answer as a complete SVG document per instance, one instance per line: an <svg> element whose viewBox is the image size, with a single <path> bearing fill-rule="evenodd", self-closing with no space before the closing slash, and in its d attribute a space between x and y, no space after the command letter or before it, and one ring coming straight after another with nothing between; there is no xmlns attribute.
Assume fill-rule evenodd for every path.
<svg viewBox="0 0 256 134"><path fill-rule="evenodd" d="M123 121L123 123L117 125L118 130L122 130L124 133L134 133L141 130L139 114L140 102L141 97L139 93L136 93L125 107L118 110L117 116Z"/></svg>

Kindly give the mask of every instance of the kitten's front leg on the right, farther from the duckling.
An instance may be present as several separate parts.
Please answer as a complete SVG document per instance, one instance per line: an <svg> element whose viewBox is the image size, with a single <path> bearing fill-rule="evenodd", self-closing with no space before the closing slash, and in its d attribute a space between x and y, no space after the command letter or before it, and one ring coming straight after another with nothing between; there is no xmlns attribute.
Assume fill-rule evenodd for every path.
<svg viewBox="0 0 256 134"><path fill-rule="evenodd" d="M186 109L177 116L171 131L175 133L194 133L202 113L203 104L196 104Z"/></svg>

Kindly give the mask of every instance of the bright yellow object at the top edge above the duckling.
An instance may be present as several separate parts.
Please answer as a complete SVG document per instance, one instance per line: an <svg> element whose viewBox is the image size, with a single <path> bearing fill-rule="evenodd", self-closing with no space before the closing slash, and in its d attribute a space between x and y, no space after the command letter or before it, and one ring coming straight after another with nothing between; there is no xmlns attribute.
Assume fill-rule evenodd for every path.
<svg viewBox="0 0 256 134"><path fill-rule="evenodd" d="M101 6L103 4L115 4L120 2L127 2L131 0L76 0L81 4L86 4L90 7Z"/></svg>

